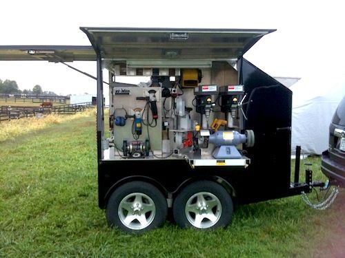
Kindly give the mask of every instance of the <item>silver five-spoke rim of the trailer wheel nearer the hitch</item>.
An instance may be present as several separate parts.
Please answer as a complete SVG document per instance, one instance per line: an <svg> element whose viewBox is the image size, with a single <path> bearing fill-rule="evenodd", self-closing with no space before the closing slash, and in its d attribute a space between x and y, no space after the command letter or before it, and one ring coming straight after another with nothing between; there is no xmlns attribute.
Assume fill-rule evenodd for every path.
<svg viewBox="0 0 345 258"><path fill-rule="evenodd" d="M210 228L221 217L221 202L213 193L195 193L186 203L188 222L195 228Z"/></svg>

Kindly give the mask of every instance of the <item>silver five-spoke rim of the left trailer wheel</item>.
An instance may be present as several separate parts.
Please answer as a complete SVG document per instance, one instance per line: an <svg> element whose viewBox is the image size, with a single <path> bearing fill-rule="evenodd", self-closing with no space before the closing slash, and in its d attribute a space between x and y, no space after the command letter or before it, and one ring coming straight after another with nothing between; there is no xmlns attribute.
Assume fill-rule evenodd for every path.
<svg viewBox="0 0 345 258"><path fill-rule="evenodd" d="M145 193L130 193L121 200L118 214L124 226L132 230L141 230L155 219L156 206Z"/></svg>

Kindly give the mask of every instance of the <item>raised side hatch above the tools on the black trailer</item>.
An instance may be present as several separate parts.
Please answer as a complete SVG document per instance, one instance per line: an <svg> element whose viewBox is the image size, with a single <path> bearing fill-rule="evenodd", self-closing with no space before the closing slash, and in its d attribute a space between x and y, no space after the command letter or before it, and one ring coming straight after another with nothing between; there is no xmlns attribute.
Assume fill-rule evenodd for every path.
<svg viewBox="0 0 345 258"><path fill-rule="evenodd" d="M103 59L143 63L235 61L262 36L275 30L86 28ZM146 62L146 63L145 63Z"/></svg>

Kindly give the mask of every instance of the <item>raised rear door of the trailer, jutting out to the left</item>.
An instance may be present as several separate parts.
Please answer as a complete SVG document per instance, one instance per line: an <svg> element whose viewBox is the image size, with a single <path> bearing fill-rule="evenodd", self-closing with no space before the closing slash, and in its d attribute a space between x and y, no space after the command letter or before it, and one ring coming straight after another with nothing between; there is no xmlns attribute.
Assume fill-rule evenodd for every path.
<svg viewBox="0 0 345 258"><path fill-rule="evenodd" d="M88 45L0 45L0 61L95 61Z"/></svg>

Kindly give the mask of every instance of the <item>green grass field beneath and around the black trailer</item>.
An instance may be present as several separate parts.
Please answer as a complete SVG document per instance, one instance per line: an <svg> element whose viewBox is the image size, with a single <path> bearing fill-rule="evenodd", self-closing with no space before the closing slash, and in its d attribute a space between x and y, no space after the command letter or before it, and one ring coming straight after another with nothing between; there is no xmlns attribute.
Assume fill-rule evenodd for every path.
<svg viewBox="0 0 345 258"><path fill-rule="evenodd" d="M181 230L166 222L126 235L108 228L97 206L94 113L6 139L0 141L1 258L331 257L329 239L342 236L334 228L345 224L344 191L328 211L288 197L238 207L225 229ZM307 161L322 178L319 158Z"/></svg>

